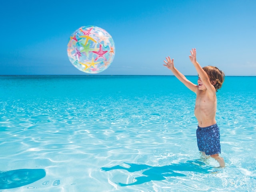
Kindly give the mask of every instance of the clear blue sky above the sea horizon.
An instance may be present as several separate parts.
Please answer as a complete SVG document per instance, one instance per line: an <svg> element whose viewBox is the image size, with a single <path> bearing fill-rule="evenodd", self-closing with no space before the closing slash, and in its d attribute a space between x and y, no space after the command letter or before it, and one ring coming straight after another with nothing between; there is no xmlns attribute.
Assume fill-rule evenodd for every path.
<svg viewBox="0 0 256 192"><path fill-rule="evenodd" d="M255 0L12 0L0 2L0 75L78 74L68 60L81 26L108 31L116 54L99 75L172 75L166 56L197 75L188 56L226 75L256 75Z"/></svg>

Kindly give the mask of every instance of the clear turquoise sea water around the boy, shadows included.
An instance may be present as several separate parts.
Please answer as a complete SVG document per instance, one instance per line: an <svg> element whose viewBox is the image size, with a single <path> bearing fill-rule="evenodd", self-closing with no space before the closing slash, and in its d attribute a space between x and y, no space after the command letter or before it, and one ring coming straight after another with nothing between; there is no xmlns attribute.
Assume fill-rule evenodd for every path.
<svg viewBox="0 0 256 192"><path fill-rule="evenodd" d="M2 76L0 192L253 191L256 77L217 98L224 169L201 159L195 94L173 76Z"/></svg>

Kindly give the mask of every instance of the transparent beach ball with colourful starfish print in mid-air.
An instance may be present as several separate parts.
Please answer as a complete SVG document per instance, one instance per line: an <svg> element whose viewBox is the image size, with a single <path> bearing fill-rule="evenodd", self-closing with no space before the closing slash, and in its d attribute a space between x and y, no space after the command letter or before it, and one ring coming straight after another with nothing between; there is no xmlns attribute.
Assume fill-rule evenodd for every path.
<svg viewBox="0 0 256 192"><path fill-rule="evenodd" d="M106 70L115 56L112 36L97 26L83 26L68 42L68 58L82 72L96 74Z"/></svg>

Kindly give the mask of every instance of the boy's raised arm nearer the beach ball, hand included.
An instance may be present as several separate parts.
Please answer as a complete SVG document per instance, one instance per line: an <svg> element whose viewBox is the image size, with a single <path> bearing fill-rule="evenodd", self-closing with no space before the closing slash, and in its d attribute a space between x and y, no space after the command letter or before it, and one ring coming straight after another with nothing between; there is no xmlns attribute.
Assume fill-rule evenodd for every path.
<svg viewBox="0 0 256 192"><path fill-rule="evenodd" d="M189 81L181 72L179 72L175 67L174 67L174 59L171 59L170 56L166 57L167 61L164 61L168 69L172 71L172 73L180 80L187 88L192 90L193 92L196 92L197 85L193 84L191 81Z"/></svg>

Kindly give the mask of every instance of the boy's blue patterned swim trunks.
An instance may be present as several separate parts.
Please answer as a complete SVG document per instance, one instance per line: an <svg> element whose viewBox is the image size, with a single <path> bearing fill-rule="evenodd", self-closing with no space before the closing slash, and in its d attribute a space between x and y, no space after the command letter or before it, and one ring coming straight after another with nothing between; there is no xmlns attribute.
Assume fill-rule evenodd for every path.
<svg viewBox="0 0 256 192"><path fill-rule="evenodd" d="M206 155L220 154L220 129L217 124L196 130L197 146Z"/></svg>

